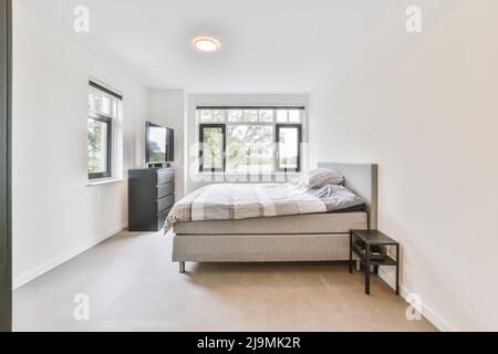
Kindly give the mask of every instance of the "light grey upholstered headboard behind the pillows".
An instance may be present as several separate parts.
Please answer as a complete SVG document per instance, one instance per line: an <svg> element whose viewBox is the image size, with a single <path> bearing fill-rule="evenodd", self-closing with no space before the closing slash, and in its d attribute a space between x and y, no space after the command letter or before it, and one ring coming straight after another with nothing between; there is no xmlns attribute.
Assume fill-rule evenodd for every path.
<svg viewBox="0 0 498 354"><path fill-rule="evenodd" d="M377 165L319 163L319 168L330 168L344 176L345 187L365 199L370 229L377 229Z"/></svg>

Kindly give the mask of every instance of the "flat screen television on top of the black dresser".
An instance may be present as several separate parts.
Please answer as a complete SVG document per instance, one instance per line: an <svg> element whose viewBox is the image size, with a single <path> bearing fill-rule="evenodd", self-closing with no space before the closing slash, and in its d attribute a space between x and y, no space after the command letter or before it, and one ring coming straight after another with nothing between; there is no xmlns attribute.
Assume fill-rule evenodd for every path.
<svg viewBox="0 0 498 354"><path fill-rule="evenodd" d="M172 128L145 123L145 163L158 165L173 163L175 133Z"/></svg>

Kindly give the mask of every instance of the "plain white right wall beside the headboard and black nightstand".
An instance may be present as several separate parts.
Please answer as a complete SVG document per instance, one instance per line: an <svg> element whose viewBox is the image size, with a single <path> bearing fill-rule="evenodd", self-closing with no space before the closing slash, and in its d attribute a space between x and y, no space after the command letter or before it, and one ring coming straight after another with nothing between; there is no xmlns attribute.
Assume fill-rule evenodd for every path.
<svg viewBox="0 0 498 354"><path fill-rule="evenodd" d="M380 166L380 229L444 330L498 330L498 2L406 2L310 95L311 162ZM437 4L444 6L437 9Z"/></svg>

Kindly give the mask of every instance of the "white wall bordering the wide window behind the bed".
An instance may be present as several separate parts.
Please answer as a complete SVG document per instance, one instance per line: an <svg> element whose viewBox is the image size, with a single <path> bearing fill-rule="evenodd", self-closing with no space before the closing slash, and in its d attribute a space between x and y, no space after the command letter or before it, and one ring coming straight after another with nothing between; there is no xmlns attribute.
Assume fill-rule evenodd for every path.
<svg viewBox="0 0 498 354"><path fill-rule="evenodd" d="M247 176L226 174L201 174L198 168L198 138L199 129L196 119L197 106L304 106L308 107L308 95L305 94L189 94L187 96L186 113L186 191L191 192L203 186L220 181L242 181ZM302 129L302 166L308 167L308 110L304 114ZM242 180L239 180L239 178ZM253 179L256 178L256 179ZM250 181L270 181L273 176L250 176Z"/></svg>

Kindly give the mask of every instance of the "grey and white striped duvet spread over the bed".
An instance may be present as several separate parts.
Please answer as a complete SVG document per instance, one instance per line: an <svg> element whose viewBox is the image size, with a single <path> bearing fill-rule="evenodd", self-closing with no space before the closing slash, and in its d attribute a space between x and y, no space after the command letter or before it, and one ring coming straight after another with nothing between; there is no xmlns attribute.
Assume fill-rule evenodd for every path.
<svg viewBox="0 0 498 354"><path fill-rule="evenodd" d="M179 200L166 218L165 231L177 221L235 220L326 212L309 189L293 184L216 184Z"/></svg>

